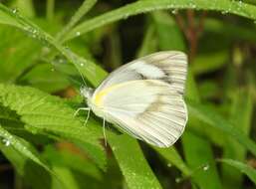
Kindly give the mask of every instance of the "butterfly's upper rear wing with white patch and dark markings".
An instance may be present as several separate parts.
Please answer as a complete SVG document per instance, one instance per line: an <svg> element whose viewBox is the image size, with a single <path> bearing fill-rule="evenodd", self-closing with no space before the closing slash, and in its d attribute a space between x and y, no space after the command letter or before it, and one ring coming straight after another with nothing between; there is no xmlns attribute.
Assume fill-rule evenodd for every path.
<svg viewBox="0 0 256 189"><path fill-rule="evenodd" d="M97 89L134 80L159 80L172 86L179 94L184 93L187 58L182 52L163 51L132 61L113 72Z"/></svg>

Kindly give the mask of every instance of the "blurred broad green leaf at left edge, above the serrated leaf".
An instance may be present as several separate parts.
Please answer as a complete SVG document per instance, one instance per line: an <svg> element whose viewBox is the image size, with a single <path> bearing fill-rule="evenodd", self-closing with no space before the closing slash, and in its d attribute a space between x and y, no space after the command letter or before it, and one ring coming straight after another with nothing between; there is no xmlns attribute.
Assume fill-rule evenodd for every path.
<svg viewBox="0 0 256 189"><path fill-rule="evenodd" d="M24 71L35 65L40 46L9 26L1 26L0 38L0 82L13 83Z"/></svg>

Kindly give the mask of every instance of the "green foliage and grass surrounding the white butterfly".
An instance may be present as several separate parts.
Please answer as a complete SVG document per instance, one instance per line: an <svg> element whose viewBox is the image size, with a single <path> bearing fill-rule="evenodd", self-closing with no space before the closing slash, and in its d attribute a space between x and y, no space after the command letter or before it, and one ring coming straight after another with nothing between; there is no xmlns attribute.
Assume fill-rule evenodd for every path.
<svg viewBox="0 0 256 189"><path fill-rule="evenodd" d="M0 3L0 188L255 187L253 20L255 3L238 0ZM177 145L104 138L101 119L74 115L83 82L164 50L189 56Z"/></svg>

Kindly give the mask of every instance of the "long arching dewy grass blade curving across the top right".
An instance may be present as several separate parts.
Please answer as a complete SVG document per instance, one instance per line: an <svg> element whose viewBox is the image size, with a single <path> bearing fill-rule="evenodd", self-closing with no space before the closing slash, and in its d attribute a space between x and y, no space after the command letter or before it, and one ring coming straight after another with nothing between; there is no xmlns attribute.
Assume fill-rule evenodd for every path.
<svg viewBox="0 0 256 189"><path fill-rule="evenodd" d="M256 6L243 3L242 1L229 0L144 0L130 3L124 7L110 11L108 13L97 16L89 21L85 21L75 27L64 39L71 40L77 37L79 32L81 35L96 28L105 26L112 22L127 19L129 16L141 13L147 13L155 10L178 10L178 9L195 9L195 10L214 10L220 11L223 14L231 13L243 16L249 19L256 20Z"/></svg>

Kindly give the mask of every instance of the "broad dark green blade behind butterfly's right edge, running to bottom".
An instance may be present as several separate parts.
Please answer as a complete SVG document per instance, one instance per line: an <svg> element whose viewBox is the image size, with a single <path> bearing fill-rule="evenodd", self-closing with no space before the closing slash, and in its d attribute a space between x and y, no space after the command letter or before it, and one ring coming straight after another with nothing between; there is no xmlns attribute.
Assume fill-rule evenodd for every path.
<svg viewBox="0 0 256 189"><path fill-rule="evenodd" d="M189 96L199 103L200 98L191 70L189 70L187 78L186 96ZM188 116L190 117L190 111L188 112ZM188 118L187 126L192 126L192 123L193 122ZM182 144L186 162L191 169L194 170L191 175L193 181L201 189L220 189L221 182L210 142L207 139L194 134L190 130L186 130L182 136ZM201 167L202 165L203 167Z"/></svg>

